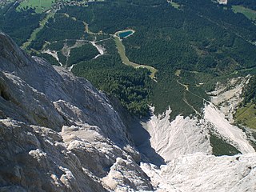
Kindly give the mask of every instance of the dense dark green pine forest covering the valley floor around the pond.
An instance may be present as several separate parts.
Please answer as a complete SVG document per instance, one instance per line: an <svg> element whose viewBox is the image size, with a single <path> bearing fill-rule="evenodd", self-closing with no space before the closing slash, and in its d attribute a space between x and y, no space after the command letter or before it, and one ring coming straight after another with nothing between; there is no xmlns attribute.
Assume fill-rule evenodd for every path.
<svg viewBox="0 0 256 192"><path fill-rule="evenodd" d="M18 4L10 3L1 10L0 26L30 54L73 66L74 74L114 95L131 114L146 116L149 106L162 114L170 106L170 118L200 115L209 99L206 92L216 82L255 74L255 22L232 8L255 10L255 5L253 0L230 0L226 6L210 0L174 2L176 6L165 0L63 4L41 14L30 7L18 11ZM122 38L126 57L157 69L155 79L149 70L123 64L114 34L127 29L135 33ZM104 54L96 57L91 42L103 47ZM44 50L55 51L58 61Z"/></svg>

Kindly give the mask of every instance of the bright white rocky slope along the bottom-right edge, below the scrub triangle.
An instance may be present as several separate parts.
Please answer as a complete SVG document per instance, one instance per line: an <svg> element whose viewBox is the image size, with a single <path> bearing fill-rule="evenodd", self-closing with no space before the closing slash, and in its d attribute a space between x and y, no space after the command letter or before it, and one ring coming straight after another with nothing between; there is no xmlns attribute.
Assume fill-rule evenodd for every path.
<svg viewBox="0 0 256 192"><path fill-rule="evenodd" d="M215 157L202 153L174 158L158 169L142 163L156 191L256 191L256 155Z"/></svg>

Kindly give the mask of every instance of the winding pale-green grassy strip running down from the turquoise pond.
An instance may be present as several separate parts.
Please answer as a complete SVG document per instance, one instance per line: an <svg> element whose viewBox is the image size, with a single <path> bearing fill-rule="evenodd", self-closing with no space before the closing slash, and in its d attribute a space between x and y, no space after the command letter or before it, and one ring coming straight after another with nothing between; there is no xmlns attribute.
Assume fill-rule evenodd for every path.
<svg viewBox="0 0 256 192"><path fill-rule="evenodd" d="M153 66L146 66L146 65L139 65L134 62L130 62L129 58L126 57L126 48L123 46L122 41L118 37L114 37L115 44L118 48L118 54L120 55L120 58L122 59L122 62L127 66L132 66L134 68L146 68L147 70L150 70L150 78L155 78L155 74L158 72Z"/></svg>

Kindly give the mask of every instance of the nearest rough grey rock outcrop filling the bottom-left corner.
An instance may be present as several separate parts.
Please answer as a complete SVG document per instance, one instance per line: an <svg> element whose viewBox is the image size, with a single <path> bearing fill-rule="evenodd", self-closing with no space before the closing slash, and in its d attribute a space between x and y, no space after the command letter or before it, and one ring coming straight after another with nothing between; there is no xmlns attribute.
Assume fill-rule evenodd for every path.
<svg viewBox="0 0 256 192"><path fill-rule="evenodd" d="M10 119L0 125L0 191L105 191L54 130Z"/></svg>

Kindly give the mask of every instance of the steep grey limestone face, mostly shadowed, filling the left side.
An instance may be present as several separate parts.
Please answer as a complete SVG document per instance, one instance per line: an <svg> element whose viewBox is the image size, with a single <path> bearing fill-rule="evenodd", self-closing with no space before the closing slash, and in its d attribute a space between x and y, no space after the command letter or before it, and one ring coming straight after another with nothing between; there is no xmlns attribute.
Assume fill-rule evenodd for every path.
<svg viewBox="0 0 256 192"><path fill-rule="evenodd" d="M136 184L124 182L126 188L152 189L106 95L62 67L31 58L3 33L0 118L0 191L111 190L105 178L117 158L127 157L122 173L138 177Z"/></svg>

